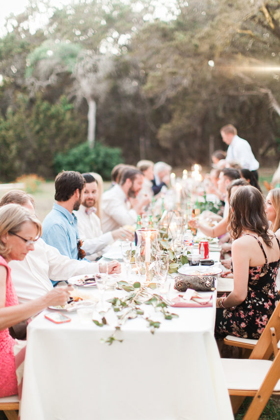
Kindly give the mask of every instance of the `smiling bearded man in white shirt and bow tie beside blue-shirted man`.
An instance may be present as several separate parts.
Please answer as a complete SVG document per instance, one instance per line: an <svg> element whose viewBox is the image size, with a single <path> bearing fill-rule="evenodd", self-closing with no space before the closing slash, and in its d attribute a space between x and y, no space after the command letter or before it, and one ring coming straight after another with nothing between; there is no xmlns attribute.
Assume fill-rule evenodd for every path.
<svg viewBox="0 0 280 420"><path fill-rule="evenodd" d="M86 258L93 261L104 252L107 245L117 239L132 241L134 235L127 229L119 227L111 232L103 233L99 217L95 214L98 201L97 180L90 173L83 173L85 179L84 199L79 210L74 211L78 219L79 237L83 240Z"/></svg>

